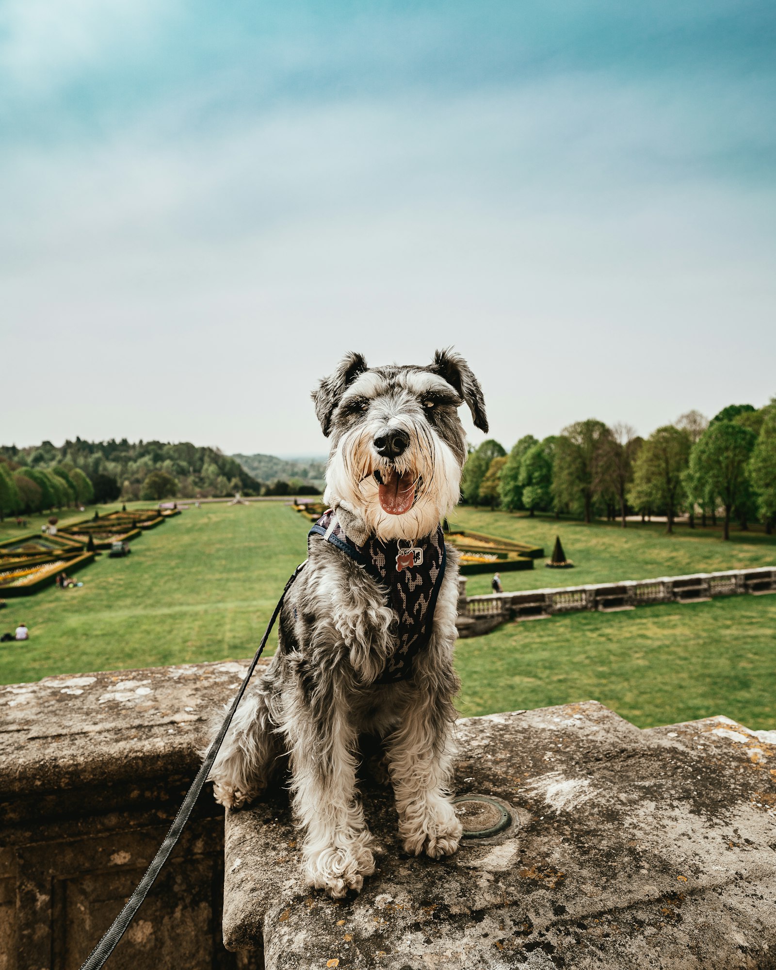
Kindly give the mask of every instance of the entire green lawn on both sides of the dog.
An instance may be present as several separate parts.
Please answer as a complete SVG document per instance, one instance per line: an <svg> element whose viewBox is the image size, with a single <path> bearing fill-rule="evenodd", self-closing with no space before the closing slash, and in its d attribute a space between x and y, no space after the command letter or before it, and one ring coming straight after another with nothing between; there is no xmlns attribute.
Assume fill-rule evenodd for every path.
<svg viewBox="0 0 776 970"><path fill-rule="evenodd" d="M710 530L681 527L667 536L657 525L624 531L469 508L455 524L548 553L561 534L578 567L505 573L507 589L776 563L776 538L761 533L733 533L726 543ZM102 556L83 569L80 590L9 599L0 630L24 620L31 639L0 645L0 682L250 656L305 558L307 528L279 502L184 511L136 539L127 559ZM18 533L15 523L0 526L2 537ZM486 592L489 581L471 577L469 592ZM727 714L772 728L774 630L776 596L511 624L459 642L459 708L485 714L595 697L640 727Z"/></svg>

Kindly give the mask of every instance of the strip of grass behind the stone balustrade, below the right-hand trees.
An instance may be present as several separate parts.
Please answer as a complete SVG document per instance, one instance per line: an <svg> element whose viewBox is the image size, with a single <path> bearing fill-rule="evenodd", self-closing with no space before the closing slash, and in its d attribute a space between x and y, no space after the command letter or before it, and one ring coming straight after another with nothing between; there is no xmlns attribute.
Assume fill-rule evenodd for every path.
<svg viewBox="0 0 776 970"><path fill-rule="evenodd" d="M762 532L731 533L722 539L722 529L690 529L677 526L672 535L664 524L557 521L551 517L529 518L527 513L490 512L462 505L451 526L472 532L501 535L530 545L542 546L552 555L555 536L561 536L573 569L547 569L535 560L532 570L504 572L504 590L535 590L548 586L581 586L618 579L652 579L680 576L688 572L713 572L745 566L776 566L776 535ZM494 566L494 571L496 570ZM491 592L491 573L469 576L469 596Z"/></svg>

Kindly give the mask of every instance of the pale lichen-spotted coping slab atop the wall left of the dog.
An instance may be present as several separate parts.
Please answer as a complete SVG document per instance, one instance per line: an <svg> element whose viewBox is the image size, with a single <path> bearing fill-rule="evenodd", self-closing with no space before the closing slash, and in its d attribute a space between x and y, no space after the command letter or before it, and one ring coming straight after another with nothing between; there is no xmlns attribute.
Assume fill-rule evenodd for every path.
<svg viewBox="0 0 776 970"><path fill-rule="evenodd" d="M248 661L182 663L0 686L0 786L47 792L196 763ZM259 676L261 662L255 676Z"/></svg>

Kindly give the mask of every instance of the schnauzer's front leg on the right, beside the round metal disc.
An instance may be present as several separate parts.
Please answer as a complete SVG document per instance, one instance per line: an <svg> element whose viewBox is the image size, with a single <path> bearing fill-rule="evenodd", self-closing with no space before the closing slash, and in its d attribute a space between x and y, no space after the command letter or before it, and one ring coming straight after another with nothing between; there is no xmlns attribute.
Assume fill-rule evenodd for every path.
<svg viewBox="0 0 776 970"><path fill-rule="evenodd" d="M386 739L388 770L396 794L404 852L432 858L451 856L462 825L447 786L455 754L449 702L416 696L402 724Z"/></svg>

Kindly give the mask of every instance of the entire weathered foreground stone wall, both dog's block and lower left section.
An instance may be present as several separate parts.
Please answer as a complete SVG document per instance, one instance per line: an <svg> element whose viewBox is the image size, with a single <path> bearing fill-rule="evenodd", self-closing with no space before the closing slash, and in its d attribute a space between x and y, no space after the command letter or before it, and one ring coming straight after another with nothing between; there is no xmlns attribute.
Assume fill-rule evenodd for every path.
<svg viewBox="0 0 776 970"><path fill-rule="evenodd" d="M0 970L78 970L245 668L0 688ZM456 792L508 811L498 835L405 858L391 792L365 778L378 871L333 902L300 883L283 790L228 814L225 840L205 792L109 966L776 967L776 731L723 717L642 731L590 701L458 732Z"/></svg>

